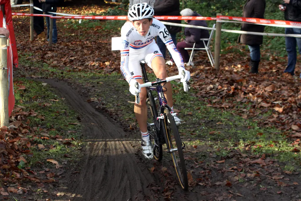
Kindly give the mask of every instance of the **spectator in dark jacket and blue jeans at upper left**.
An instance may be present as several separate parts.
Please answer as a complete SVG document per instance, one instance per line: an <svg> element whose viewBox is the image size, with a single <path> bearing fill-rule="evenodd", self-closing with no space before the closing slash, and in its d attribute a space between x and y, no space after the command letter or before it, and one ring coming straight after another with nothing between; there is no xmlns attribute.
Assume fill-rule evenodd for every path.
<svg viewBox="0 0 301 201"><path fill-rule="evenodd" d="M43 3L42 9L45 14L56 16L56 14L51 14L48 12L56 12L57 11L57 4L59 0L39 0ZM49 27L50 27L50 18L46 17L46 24L47 24L47 40L49 41ZM53 18L53 28L52 28L52 43L57 43L57 27L56 27L56 19Z"/></svg>

